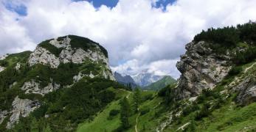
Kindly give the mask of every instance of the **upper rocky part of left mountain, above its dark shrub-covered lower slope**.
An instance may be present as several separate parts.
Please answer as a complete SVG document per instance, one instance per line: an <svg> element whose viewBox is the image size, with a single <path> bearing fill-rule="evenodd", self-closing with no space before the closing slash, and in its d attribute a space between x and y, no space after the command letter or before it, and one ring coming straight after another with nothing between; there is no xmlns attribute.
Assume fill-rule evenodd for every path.
<svg viewBox="0 0 256 132"><path fill-rule="evenodd" d="M33 52L8 54L0 61L1 128L13 128L21 117L44 106L44 96L72 88L83 78L115 80L105 48L75 35L46 40Z"/></svg>

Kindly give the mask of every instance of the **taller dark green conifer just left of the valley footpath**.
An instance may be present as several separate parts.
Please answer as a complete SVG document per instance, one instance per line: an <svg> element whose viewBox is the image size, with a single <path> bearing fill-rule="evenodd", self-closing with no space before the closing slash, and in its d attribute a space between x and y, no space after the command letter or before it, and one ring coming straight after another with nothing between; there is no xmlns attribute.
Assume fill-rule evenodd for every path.
<svg viewBox="0 0 256 132"><path fill-rule="evenodd" d="M127 98L123 98L121 102L121 111L120 111L120 120L122 123L122 128L129 128L130 122L128 120L128 117L131 115L131 106L127 100Z"/></svg>

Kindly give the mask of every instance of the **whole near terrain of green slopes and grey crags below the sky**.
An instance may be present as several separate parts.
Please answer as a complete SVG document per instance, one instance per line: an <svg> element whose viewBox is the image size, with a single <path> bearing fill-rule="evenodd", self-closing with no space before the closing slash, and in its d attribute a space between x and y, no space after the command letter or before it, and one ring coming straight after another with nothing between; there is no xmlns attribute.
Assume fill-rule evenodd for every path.
<svg viewBox="0 0 256 132"><path fill-rule="evenodd" d="M84 37L1 57L1 131L256 131L256 23L185 48L179 80L158 92L114 81L105 48Z"/></svg>

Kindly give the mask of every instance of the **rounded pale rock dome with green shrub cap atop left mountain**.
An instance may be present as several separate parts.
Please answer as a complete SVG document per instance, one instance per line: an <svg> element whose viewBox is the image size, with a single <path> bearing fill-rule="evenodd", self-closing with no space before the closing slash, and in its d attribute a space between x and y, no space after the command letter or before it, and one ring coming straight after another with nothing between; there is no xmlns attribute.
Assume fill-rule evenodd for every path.
<svg viewBox="0 0 256 132"><path fill-rule="evenodd" d="M115 80L108 65L105 48L85 37L68 35L46 40L37 46L28 59L30 66L43 64L52 68L58 68L60 63L82 64L86 61L103 63L106 67L102 72L103 76Z"/></svg>

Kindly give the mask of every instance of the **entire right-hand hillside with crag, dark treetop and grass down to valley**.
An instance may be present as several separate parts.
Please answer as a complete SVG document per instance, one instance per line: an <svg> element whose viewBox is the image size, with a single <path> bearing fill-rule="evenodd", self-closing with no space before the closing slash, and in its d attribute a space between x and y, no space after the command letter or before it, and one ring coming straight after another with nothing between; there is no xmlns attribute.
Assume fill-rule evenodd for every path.
<svg viewBox="0 0 256 132"><path fill-rule="evenodd" d="M252 55L255 53L255 27L256 23L246 23L237 28L209 29L198 34L197 37L207 37L195 37L186 45L187 52L177 63L181 71L178 84L150 95L145 95L149 91L141 91L143 99L139 109L135 109L136 90L128 94L132 109L128 116L129 127L121 130L256 131L256 58ZM231 44L229 40L234 34L229 34L229 30L233 29L239 39ZM226 42L212 40L212 35L223 37L215 39ZM232 46L226 46L229 44ZM120 110L120 106L112 103L98 114L97 120L83 122L77 131L93 128L95 131L120 131L120 114L107 120L111 109ZM105 129L97 129L98 126Z"/></svg>

